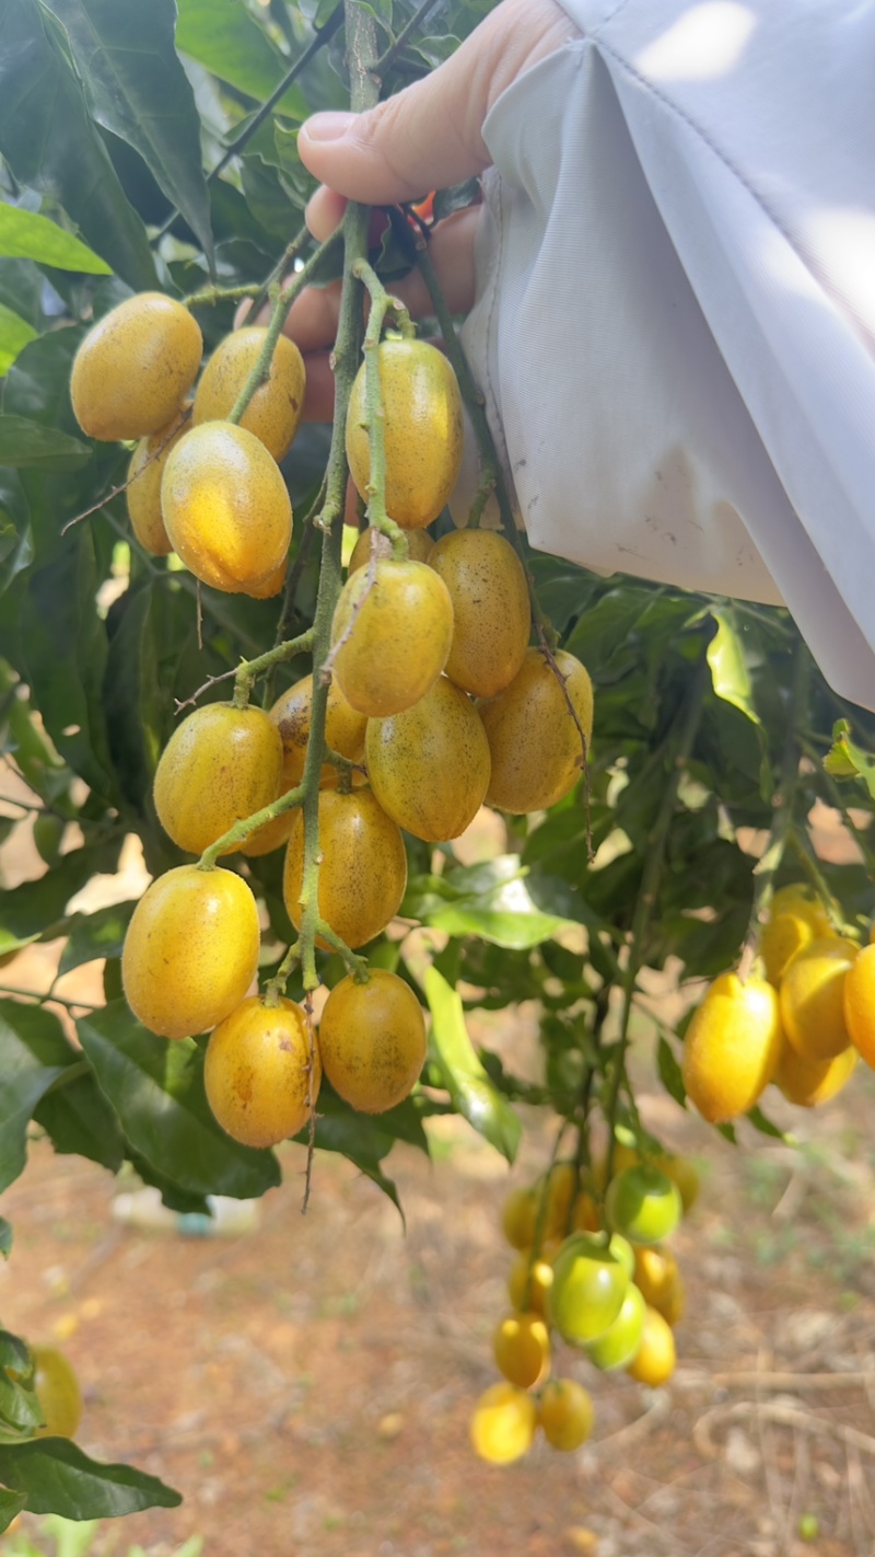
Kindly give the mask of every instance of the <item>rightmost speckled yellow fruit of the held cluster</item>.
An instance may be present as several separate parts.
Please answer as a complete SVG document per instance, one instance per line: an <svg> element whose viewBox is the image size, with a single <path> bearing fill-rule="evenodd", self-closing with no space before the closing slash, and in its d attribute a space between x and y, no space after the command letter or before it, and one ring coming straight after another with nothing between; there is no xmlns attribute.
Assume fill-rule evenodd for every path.
<svg viewBox="0 0 875 1557"><path fill-rule="evenodd" d="M586 735L592 741L592 682L564 649L556 665ZM580 778L580 732L556 676L539 649L527 649L510 687L477 704L493 763L486 805L513 816L546 811Z"/></svg>

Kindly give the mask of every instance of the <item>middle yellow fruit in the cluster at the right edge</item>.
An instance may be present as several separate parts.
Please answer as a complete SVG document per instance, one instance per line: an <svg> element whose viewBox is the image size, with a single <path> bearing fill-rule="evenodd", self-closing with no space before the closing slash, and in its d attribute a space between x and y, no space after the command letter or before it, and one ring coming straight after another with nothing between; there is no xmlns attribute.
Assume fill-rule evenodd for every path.
<svg viewBox="0 0 875 1557"><path fill-rule="evenodd" d="M793 1048L807 1060L830 1060L850 1043L844 1025L844 981L856 958L853 940L822 936L790 964L780 984L780 1017Z"/></svg>

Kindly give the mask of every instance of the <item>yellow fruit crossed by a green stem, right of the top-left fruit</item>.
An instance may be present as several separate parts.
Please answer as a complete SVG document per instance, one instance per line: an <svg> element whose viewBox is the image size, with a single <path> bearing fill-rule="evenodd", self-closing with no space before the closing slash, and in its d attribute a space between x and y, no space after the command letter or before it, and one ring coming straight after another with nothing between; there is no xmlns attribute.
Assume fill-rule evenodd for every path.
<svg viewBox="0 0 875 1557"><path fill-rule="evenodd" d="M194 395L196 427L200 422L224 422L232 414L266 335L266 329L250 325L219 341ZM291 448L302 419L305 389L303 357L295 343L281 335L274 347L270 377L255 391L238 424L247 433L255 433L274 459L281 459Z"/></svg>

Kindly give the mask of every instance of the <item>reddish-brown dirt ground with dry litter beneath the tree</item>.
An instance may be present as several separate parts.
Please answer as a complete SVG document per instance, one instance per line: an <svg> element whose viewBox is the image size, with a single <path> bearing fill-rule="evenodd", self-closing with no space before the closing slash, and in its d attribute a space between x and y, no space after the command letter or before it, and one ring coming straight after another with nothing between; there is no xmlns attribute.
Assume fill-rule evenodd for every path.
<svg viewBox="0 0 875 1557"><path fill-rule="evenodd" d="M90 906L104 887L132 895L138 869L132 853ZM28 948L5 978L47 989L56 956ZM75 978L89 998L99 965ZM532 1063L530 1014L490 1017L488 1040ZM406 1233L333 1157L302 1218L295 1146L249 1232L137 1228L113 1218L129 1185L34 1140L0 1207L16 1228L3 1322L73 1361L82 1448L185 1496L107 1521L93 1557L169 1557L194 1534L204 1557L872 1557L875 1076L859 1067L817 1115L769 1096L797 1151L748 1126L732 1149L637 1062L647 1123L702 1171L675 1239L678 1372L648 1392L563 1353L595 1398L594 1437L573 1456L539 1442L505 1470L474 1459L468 1420L508 1306L500 1200L549 1152L535 1115L513 1172L458 1119L431 1124L431 1163L398 1149Z"/></svg>

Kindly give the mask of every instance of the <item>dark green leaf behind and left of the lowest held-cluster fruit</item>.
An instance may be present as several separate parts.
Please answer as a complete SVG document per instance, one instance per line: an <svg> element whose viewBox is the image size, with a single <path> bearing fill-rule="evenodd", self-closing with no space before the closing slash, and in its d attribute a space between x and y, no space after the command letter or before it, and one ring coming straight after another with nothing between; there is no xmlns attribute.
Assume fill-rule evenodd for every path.
<svg viewBox="0 0 875 1557"><path fill-rule="evenodd" d="M236 1199L280 1182L272 1152L239 1146L216 1124L193 1039L157 1039L121 1000L81 1017L76 1029L127 1140L159 1172L194 1194Z"/></svg>

